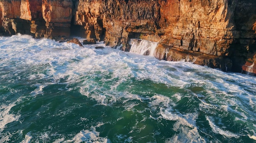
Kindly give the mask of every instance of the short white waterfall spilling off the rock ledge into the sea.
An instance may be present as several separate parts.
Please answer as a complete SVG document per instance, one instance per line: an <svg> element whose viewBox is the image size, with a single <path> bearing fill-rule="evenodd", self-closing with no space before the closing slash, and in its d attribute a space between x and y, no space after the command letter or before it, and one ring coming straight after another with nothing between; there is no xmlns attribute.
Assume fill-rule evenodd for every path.
<svg viewBox="0 0 256 143"><path fill-rule="evenodd" d="M132 45L130 52L153 56L158 43L143 39L130 39L130 44Z"/></svg>

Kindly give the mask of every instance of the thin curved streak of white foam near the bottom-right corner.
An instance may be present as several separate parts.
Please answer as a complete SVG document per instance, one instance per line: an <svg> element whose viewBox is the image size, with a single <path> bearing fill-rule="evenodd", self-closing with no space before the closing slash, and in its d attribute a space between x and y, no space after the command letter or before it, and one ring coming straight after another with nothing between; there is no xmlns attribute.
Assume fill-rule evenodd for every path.
<svg viewBox="0 0 256 143"><path fill-rule="evenodd" d="M211 126L211 129L213 132L215 132L216 134L221 134L222 136L224 137L228 137L228 138L231 138L231 137L234 137L234 138L239 138L240 136L237 135L237 134L234 134L230 131L225 131L225 130L222 130L221 128L219 128L218 126L216 126L210 119L210 117L206 116L206 119L207 121L209 121L209 125Z"/></svg>

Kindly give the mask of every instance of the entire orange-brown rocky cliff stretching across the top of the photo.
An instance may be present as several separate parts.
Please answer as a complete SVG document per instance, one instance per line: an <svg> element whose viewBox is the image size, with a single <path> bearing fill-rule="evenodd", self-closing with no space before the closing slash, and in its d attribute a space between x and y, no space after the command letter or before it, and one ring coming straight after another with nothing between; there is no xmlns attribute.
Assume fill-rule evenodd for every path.
<svg viewBox="0 0 256 143"><path fill-rule="evenodd" d="M155 57L256 74L254 0L0 0L3 35L159 42Z"/></svg>

